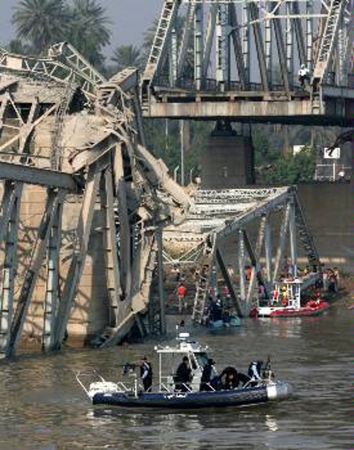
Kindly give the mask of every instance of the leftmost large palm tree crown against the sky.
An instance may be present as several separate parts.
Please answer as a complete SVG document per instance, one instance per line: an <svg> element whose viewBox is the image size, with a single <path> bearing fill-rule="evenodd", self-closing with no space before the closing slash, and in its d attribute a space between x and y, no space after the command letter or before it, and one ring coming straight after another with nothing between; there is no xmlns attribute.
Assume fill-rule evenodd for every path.
<svg viewBox="0 0 354 450"><path fill-rule="evenodd" d="M17 37L28 40L37 53L64 39L68 21L63 0L21 0L12 16Z"/></svg>

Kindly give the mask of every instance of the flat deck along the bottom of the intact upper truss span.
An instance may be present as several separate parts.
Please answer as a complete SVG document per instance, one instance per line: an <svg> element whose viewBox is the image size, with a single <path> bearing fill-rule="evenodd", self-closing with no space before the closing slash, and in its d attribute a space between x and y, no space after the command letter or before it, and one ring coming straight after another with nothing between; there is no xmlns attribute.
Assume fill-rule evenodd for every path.
<svg viewBox="0 0 354 450"><path fill-rule="evenodd" d="M353 121L354 89L329 86L324 102L314 110L307 91L186 91L156 87L145 117L274 122L349 127Z"/></svg>

